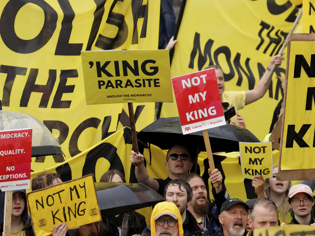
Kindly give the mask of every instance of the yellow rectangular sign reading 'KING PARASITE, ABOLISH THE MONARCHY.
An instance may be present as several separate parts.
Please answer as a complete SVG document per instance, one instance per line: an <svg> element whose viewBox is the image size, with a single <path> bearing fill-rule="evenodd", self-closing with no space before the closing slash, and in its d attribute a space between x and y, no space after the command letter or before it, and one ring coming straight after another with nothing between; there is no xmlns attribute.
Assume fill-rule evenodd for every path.
<svg viewBox="0 0 315 236"><path fill-rule="evenodd" d="M168 50L82 51L86 104L172 102Z"/></svg>

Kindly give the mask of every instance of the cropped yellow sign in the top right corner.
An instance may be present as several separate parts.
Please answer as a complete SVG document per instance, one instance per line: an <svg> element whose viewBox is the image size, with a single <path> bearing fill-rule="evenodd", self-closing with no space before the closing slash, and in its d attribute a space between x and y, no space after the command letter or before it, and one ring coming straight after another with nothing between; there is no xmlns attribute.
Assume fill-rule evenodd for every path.
<svg viewBox="0 0 315 236"><path fill-rule="evenodd" d="M315 33L315 1L303 0L302 32Z"/></svg>

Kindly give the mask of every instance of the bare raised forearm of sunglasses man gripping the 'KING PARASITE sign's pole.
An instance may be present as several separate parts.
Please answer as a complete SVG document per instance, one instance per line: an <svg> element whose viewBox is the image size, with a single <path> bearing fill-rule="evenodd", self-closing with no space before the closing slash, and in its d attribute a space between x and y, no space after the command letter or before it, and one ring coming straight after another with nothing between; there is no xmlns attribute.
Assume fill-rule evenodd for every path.
<svg viewBox="0 0 315 236"><path fill-rule="evenodd" d="M157 191L159 188L158 182L148 175L148 171L144 166L144 157L140 153L131 151L130 161L135 165L135 175L139 183L145 184L146 186L152 188L154 191ZM136 165L139 164L140 165Z"/></svg>

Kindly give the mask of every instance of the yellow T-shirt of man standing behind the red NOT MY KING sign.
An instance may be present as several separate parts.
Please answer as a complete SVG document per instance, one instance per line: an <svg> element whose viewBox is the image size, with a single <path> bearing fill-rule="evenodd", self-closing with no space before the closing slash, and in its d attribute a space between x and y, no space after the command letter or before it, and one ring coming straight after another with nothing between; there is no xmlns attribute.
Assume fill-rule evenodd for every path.
<svg viewBox="0 0 315 236"><path fill-rule="evenodd" d="M222 102L228 102L229 107L234 106L235 112L237 112L239 109L242 109L245 106L245 91L224 91L221 94L221 101ZM237 122L237 116L233 116L231 120L234 120Z"/></svg>

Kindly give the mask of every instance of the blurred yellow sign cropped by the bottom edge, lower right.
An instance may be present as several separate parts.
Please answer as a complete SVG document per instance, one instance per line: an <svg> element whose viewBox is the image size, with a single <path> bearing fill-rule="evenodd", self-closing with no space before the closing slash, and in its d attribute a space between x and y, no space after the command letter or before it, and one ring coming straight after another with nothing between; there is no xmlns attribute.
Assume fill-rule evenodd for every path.
<svg viewBox="0 0 315 236"><path fill-rule="evenodd" d="M254 229L254 235L285 236L285 235L314 235L314 226L300 224L286 224L269 228Z"/></svg>

